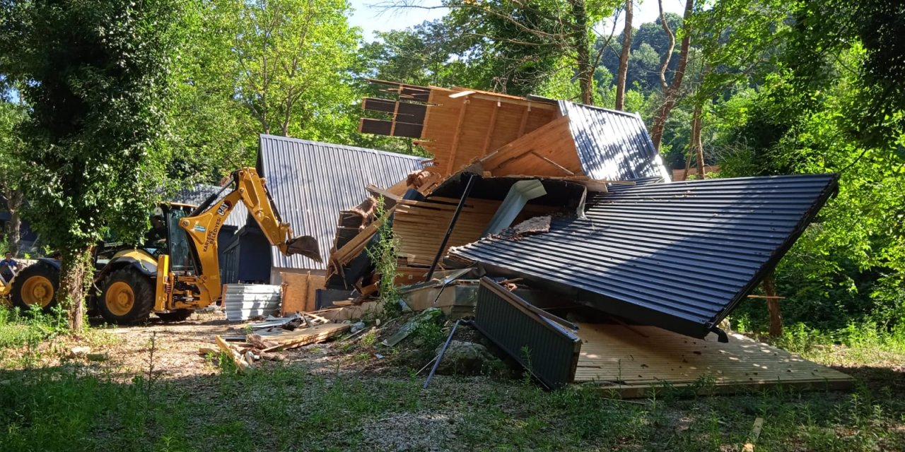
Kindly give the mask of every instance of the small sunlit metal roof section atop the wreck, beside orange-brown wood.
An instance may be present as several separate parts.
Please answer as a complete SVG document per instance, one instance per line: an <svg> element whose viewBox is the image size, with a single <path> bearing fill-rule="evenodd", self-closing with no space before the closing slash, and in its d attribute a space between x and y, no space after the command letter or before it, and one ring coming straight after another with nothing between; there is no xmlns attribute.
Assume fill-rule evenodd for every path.
<svg viewBox="0 0 905 452"><path fill-rule="evenodd" d="M598 180L627 181L645 177L670 180L662 158L637 113L559 101L568 117L585 175Z"/></svg>

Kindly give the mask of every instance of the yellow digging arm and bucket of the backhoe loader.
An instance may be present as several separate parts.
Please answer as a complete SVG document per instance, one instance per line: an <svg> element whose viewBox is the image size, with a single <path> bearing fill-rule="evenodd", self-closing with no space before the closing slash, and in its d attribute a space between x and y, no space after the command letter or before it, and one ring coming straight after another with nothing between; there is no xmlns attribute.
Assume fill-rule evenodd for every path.
<svg viewBox="0 0 905 452"><path fill-rule="evenodd" d="M264 236L281 253L286 256L300 254L321 261L318 240L310 236L293 237L292 228L289 223L281 220L264 179L254 168L235 171L233 191L217 201L219 194L208 198L194 212L179 221L179 227L190 238L190 248L197 267L194 280L192 277L183 280L194 283L199 288L202 297L200 305L206 306L221 297L217 236L238 202L245 204Z"/></svg>

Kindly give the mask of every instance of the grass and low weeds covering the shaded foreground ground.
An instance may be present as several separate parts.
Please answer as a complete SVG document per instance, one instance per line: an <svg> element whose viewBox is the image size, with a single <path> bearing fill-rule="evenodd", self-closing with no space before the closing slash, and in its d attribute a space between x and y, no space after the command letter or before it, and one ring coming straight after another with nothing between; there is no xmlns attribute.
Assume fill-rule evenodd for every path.
<svg viewBox="0 0 905 452"><path fill-rule="evenodd" d="M5 317L0 348L45 353L46 344L65 339L49 330L46 319ZM44 347L30 348L39 336ZM111 340L103 330L85 337ZM840 350L899 350L895 337L858 337L841 348L792 329L784 340L830 361ZM363 334L362 342L348 352L375 346L376 335ZM614 400L589 385L543 391L490 377L440 376L422 391L423 376L412 372L363 375L304 363L269 363L243 375L221 360L213 375L157 379L155 360L166 351L152 342L144 353L148 369L130 379L112 363L0 360L0 449L718 451L738 450L761 417L758 452L905 450L905 389L895 381L862 381L848 393L779 388L696 397L665 388L647 400ZM872 355L843 355L860 357Z"/></svg>

